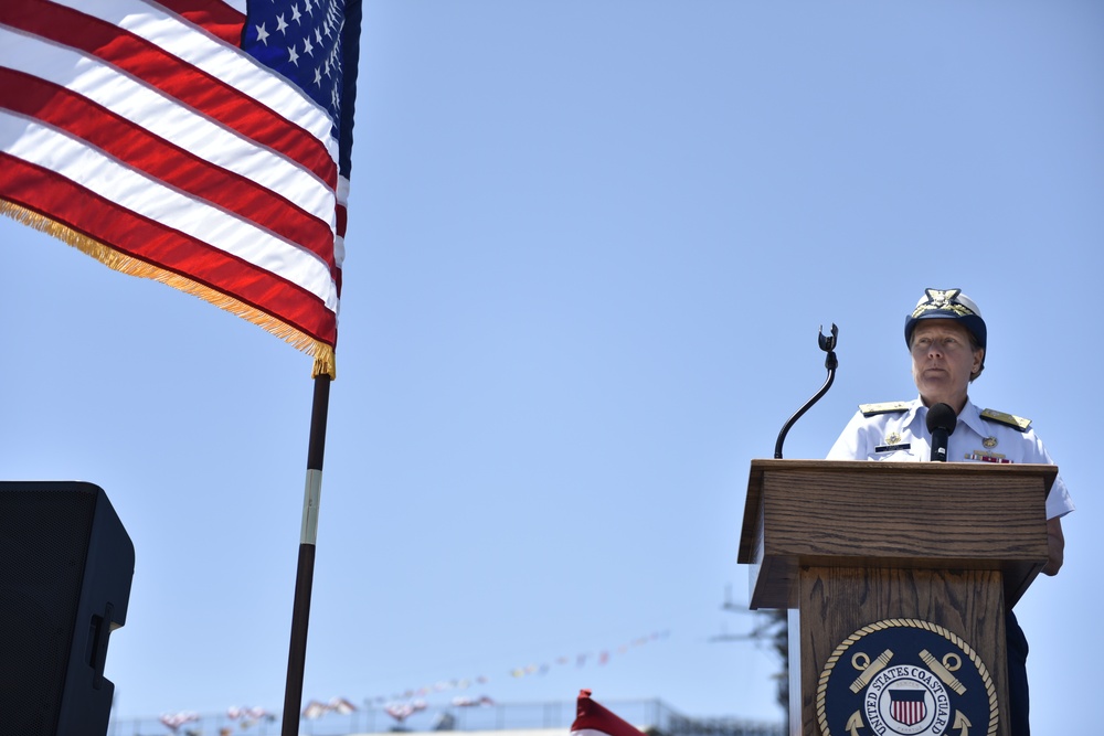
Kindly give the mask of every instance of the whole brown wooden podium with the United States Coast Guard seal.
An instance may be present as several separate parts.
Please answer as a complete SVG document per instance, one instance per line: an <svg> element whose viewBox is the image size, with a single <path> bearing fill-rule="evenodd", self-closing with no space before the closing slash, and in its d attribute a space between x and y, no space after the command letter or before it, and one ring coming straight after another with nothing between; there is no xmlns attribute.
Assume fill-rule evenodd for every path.
<svg viewBox="0 0 1104 736"><path fill-rule="evenodd" d="M1005 611L1047 562L1057 474L753 460L739 562L751 608L799 615L790 734L1007 736Z"/></svg>

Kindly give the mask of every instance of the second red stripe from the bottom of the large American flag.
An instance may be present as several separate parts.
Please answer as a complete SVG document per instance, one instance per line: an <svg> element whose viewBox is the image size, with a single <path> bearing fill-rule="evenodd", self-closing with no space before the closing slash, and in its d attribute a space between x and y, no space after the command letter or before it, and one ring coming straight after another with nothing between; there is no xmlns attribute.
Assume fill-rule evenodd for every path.
<svg viewBox="0 0 1104 736"><path fill-rule="evenodd" d="M54 84L0 67L0 107L38 118L194 196L241 217L268 223L277 235L301 243L333 263L332 232L319 217L252 179L212 168L199 157ZM332 271L336 269L331 270Z"/></svg>

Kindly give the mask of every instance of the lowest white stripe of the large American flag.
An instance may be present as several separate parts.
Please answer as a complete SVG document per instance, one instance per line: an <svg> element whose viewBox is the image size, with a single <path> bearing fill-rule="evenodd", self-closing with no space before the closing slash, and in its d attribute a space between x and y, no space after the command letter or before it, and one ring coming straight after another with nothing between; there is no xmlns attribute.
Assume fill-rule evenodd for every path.
<svg viewBox="0 0 1104 736"><path fill-rule="evenodd" d="M312 254L251 222L169 189L78 139L0 110L0 140L8 138L12 130L18 130L20 137L4 146L11 156L56 172L189 238L216 243L227 254L270 270L314 294L328 309L337 310L337 294L329 268ZM67 222L73 222L71 218L78 217L83 209L83 203L76 201L62 203L57 212L64 213ZM126 239L125 233L120 235ZM136 248L131 245L127 249Z"/></svg>

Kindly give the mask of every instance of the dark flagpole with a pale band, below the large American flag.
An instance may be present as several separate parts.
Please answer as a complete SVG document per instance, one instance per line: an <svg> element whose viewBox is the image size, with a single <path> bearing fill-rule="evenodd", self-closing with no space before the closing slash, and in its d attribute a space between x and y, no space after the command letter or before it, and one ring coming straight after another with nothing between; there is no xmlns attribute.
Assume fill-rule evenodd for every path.
<svg viewBox="0 0 1104 736"><path fill-rule="evenodd" d="M310 407L307 482L302 499L299 563L295 574L291 641L287 655L287 684L284 689L284 718L280 724L280 736L298 736L299 734L302 673L307 663L307 623L310 619L310 588L315 577L315 543L318 537L318 508L322 495L322 456L326 454L326 416L329 403L330 376L322 372L315 376L315 397Z"/></svg>

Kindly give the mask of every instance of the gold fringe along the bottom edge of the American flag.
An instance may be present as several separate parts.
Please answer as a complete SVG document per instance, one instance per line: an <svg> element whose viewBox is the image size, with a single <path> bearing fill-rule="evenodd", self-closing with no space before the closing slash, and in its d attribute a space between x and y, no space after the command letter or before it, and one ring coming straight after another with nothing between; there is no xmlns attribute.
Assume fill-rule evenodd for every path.
<svg viewBox="0 0 1104 736"><path fill-rule="evenodd" d="M39 213L14 204L13 202L0 200L0 213L11 217L15 222L56 237L63 243L73 246L77 250L92 256L113 270L117 270L120 274L127 274L128 276L137 276L139 278L148 278L155 281L160 281L161 284L171 286L174 289L199 297L204 301L209 301L219 309L223 309L231 314L235 314L244 320L253 322L257 327L267 330L280 340L291 344L297 350L311 355L315 359L311 377L318 377L322 374L329 375L331 380L337 377L337 366L333 360L332 345L311 338L310 335L295 329L287 322L284 322L267 312L246 305L221 291L216 291L209 286L193 281L185 276L173 274L172 271L146 263L145 260L139 260L138 258L119 253L110 246L104 245L99 241L77 233L76 231L66 227L50 217L40 215Z"/></svg>

